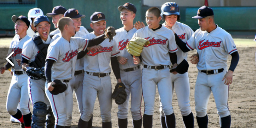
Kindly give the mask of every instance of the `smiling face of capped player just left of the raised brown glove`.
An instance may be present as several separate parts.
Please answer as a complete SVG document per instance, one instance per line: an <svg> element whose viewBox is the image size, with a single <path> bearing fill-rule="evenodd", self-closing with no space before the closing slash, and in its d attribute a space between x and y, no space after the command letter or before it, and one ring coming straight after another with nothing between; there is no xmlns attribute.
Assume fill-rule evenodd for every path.
<svg viewBox="0 0 256 128"><path fill-rule="evenodd" d="M96 36L102 35L103 33L105 33L106 21L102 20L96 23L91 23L90 27L93 29L93 32Z"/></svg>

